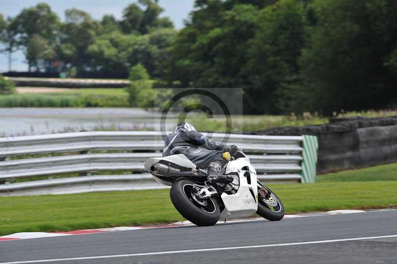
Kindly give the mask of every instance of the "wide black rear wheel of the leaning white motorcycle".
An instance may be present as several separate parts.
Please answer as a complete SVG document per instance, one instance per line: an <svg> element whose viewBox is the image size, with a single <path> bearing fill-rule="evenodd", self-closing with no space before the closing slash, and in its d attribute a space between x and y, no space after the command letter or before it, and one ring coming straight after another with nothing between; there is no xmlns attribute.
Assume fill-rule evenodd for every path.
<svg viewBox="0 0 397 264"><path fill-rule="evenodd" d="M170 191L170 198L178 212L199 226L210 226L219 220L220 209L214 198L200 199L195 195L194 182L177 181Z"/></svg>

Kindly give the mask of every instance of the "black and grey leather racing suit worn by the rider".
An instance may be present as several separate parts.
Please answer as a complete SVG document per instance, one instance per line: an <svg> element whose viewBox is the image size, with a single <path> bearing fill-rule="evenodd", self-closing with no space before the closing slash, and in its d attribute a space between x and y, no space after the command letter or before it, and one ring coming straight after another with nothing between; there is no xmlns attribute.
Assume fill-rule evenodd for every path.
<svg viewBox="0 0 397 264"><path fill-rule="evenodd" d="M210 175L219 174L226 165L222 153L228 150L227 145L212 141L196 131L172 132L164 140L163 157L184 154L199 168L207 169Z"/></svg>

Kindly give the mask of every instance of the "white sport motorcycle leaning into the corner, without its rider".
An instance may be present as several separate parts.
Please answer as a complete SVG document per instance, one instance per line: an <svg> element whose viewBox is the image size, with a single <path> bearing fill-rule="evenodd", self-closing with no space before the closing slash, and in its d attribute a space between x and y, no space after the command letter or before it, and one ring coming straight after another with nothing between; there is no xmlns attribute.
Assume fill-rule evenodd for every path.
<svg viewBox="0 0 397 264"><path fill-rule="evenodd" d="M171 186L170 198L175 208L198 226L255 213L270 221L284 216L281 200L257 179L254 166L241 150L224 169L224 175L233 177L228 184L211 185L206 181L207 173L183 154L149 158L144 167L158 183Z"/></svg>

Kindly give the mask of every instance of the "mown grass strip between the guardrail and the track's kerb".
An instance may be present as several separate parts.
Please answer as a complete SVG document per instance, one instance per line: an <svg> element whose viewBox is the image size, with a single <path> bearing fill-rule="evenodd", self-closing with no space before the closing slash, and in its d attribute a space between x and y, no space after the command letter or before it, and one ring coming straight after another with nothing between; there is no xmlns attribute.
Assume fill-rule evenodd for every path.
<svg viewBox="0 0 397 264"><path fill-rule="evenodd" d="M268 185L286 213L397 206L397 182ZM184 220L169 190L1 197L0 235L52 232Z"/></svg>

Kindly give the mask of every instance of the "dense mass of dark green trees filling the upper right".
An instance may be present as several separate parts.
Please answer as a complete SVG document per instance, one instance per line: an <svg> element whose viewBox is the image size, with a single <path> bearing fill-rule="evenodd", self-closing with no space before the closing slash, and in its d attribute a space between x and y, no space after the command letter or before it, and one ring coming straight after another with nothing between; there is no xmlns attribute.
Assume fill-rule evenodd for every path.
<svg viewBox="0 0 397 264"><path fill-rule="evenodd" d="M196 1L166 79L244 87L246 113L387 108L397 94L394 0Z"/></svg>

